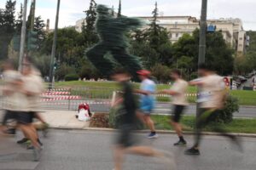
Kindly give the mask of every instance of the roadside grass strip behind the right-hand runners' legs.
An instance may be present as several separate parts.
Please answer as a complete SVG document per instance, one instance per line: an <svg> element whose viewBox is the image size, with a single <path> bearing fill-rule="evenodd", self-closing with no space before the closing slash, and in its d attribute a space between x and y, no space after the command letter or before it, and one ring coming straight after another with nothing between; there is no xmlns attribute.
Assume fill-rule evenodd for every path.
<svg viewBox="0 0 256 170"><path fill-rule="evenodd" d="M173 130L170 126L169 116L153 116L155 126L161 130ZM195 116L183 116L182 119L183 130L193 131L195 127ZM209 125L205 128L204 132L212 132L212 126ZM222 126L227 129L230 133L256 133L256 119L234 119L233 122L228 124L215 124L214 126Z"/></svg>

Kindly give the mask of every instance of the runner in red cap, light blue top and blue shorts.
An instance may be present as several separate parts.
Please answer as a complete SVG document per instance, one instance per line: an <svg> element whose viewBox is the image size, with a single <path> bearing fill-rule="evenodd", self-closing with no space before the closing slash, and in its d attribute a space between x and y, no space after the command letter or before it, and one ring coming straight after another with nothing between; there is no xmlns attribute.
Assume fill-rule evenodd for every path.
<svg viewBox="0 0 256 170"><path fill-rule="evenodd" d="M154 122L150 117L151 112L154 110L155 105L155 83L149 79L150 71L141 70L137 71L138 77L141 79L141 87L139 90L135 90L137 94L141 94L140 99L140 108L138 114L141 116L141 119L146 123L150 129L148 134L149 139L157 138L158 135L155 132Z"/></svg>

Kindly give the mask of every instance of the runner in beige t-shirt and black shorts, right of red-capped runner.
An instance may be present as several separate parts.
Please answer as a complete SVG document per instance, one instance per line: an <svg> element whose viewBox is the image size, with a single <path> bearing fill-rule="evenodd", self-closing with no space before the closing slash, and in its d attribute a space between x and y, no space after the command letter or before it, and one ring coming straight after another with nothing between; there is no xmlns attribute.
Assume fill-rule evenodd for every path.
<svg viewBox="0 0 256 170"><path fill-rule="evenodd" d="M186 145L187 142L183 138L182 126L179 124L183 111L188 105L186 99L186 92L188 88L188 82L182 79L181 72L177 69L172 70L171 77L175 81L171 89L166 89L160 91L158 94L169 94L172 95L172 127L174 127L179 140L174 145Z"/></svg>

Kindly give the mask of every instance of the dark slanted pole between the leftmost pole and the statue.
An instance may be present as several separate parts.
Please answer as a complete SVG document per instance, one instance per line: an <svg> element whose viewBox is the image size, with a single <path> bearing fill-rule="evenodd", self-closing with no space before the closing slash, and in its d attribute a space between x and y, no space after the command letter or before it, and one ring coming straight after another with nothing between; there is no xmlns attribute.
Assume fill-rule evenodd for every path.
<svg viewBox="0 0 256 170"><path fill-rule="evenodd" d="M58 0L57 3L57 12L55 18L55 32L54 32L54 39L51 48L51 55L50 55L50 68L49 68L49 89L53 88L54 86L54 62L55 62L55 54L56 54L56 42L57 42L57 31L58 31L58 22L59 22L59 11L60 11L60 3L61 0Z"/></svg>

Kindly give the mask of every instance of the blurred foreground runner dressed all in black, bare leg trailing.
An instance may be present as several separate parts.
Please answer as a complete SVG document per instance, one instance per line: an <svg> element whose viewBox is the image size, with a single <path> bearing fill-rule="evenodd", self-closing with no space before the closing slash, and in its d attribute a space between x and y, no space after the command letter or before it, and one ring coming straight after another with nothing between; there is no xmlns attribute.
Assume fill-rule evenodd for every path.
<svg viewBox="0 0 256 170"><path fill-rule="evenodd" d="M137 140L133 136L133 131L136 127L137 122L137 101L133 94L133 88L131 86L130 75L123 70L116 71L113 75L113 80L119 82L122 88L122 93L119 98L115 100L113 106L122 105L122 110L119 113L121 116L121 122L119 124L119 133L114 147L114 170L121 170L124 155L137 154L141 156L155 156L159 157L160 160L168 160L168 167L170 169L175 168L173 160L167 159L165 154L154 150L147 146L137 145Z"/></svg>

